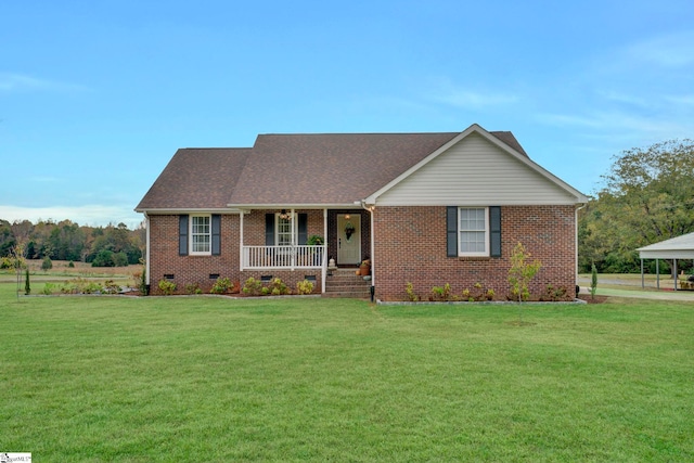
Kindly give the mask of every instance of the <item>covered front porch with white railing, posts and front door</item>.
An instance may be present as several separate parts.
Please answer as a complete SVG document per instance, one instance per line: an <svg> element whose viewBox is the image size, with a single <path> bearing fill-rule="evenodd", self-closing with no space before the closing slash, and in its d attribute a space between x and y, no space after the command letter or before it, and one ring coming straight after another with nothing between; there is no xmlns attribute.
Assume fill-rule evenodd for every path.
<svg viewBox="0 0 694 463"><path fill-rule="evenodd" d="M331 259L338 268L371 258L371 213L364 208L267 208L243 210L240 270L321 272L321 293Z"/></svg>

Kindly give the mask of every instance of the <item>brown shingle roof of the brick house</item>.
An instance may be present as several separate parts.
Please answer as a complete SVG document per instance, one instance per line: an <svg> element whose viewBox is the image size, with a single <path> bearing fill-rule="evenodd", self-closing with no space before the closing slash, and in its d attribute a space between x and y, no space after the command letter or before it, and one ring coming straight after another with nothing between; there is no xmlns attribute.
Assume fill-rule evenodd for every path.
<svg viewBox="0 0 694 463"><path fill-rule="evenodd" d="M511 132L489 133L527 156ZM260 134L252 149L181 149L136 210L351 205L458 134Z"/></svg>

